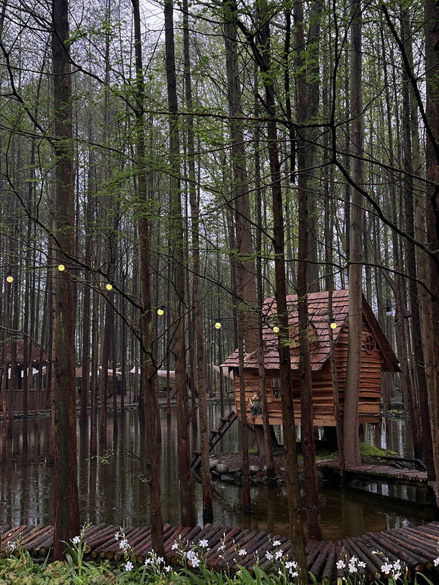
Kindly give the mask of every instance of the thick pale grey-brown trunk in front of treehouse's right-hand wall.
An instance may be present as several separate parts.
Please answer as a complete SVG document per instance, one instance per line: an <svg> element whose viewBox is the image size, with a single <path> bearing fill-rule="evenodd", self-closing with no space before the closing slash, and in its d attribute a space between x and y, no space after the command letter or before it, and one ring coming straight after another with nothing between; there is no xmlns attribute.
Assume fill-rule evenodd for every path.
<svg viewBox="0 0 439 585"><path fill-rule="evenodd" d="M363 100L361 97L361 0L351 6L351 143L353 179L361 185L363 163ZM361 293L361 234L363 231L363 201L353 189L351 200L350 254L349 254L349 316L348 358L344 393L344 456L346 461L359 462L358 399L361 371L362 293Z"/></svg>

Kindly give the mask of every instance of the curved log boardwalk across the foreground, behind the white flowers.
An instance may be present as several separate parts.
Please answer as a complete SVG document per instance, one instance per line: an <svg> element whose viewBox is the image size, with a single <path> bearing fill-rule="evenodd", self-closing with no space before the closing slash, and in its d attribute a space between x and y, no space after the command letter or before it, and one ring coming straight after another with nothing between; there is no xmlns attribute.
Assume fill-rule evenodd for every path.
<svg viewBox="0 0 439 585"><path fill-rule="evenodd" d="M84 550L86 557L96 560L123 560L123 552L115 533L120 528L116 525L90 525L84 533ZM125 536L139 563L143 563L151 551L150 530L147 527L126 528ZM47 556L53 544L53 526L0 526L1 552L4 555L11 542L19 542L35 558ZM280 557L289 559L292 556L289 538L270 536L265 532L241 530L235 526L211 525L204 527L182 528L166 524L164 526L165 562L176 564L174 542L188 548L191 544L198 545L206 540L208 548L204 548L205 558L212 569L221 570L230 567L237 569L237 564L246 566L250 571L259 559L261 569L269 573L277 572L281 566ZM369 532L358 538L346 538L339 542L309 540L307 542L307 566L316 576L318 583L329 584L344 575L337 569L336 563L342 559L357 557L364 562L364 573L368 577L385 578L381 566L385 558L389 562L397 559L407 565L409 577L416 571L427 575L433 583L439 582L439 571L435 559L438 558L439 522L431 522L423 526L405 526L383 532ZM374 551L381 551L382 556ZM268 553L268 555L267 555ZM277 555L276 555L277 553Z"/></svg>

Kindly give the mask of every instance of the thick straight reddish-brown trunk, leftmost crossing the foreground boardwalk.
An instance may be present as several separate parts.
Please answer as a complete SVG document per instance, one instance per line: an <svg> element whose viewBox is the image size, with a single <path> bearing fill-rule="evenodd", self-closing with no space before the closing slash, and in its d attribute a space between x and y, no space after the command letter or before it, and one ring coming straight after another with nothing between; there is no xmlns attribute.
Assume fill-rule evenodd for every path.
<svg viewBox="0 0 439 585"><path fill-rule="evenodd" d="M80 531L75 405L75 281L69 271L74 253L74 180L71 127L68 0L52 3L52 71L54 73L54 147L56 150L56 256L67 270L55 281L54 395L56 481L54 502L54 560L62 558L65 543ZM64 541L64 542L63 542Z"/></svg>

